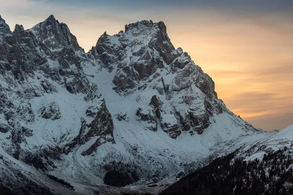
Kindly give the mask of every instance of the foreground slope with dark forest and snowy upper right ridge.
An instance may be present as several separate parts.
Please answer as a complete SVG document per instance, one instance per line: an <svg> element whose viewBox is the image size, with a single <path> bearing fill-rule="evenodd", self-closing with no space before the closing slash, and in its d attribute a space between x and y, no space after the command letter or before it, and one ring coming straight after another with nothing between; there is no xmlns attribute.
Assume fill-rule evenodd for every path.
<svg viewBox="0 0 293 195"><path fill-rule="evenodd" d="M293 125L212 160L160 195L293 194Z"/></svg>

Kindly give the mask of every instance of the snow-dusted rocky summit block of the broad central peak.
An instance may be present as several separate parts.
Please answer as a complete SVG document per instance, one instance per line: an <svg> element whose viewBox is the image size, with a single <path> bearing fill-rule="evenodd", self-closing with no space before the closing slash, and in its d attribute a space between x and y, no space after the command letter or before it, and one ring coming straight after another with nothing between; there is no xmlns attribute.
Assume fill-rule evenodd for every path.
<svg viewBox="0 0 293 195"><path fill-rule="evenodd" d="M126 25L125 33L105 32L89 53L97 53L108 70L117 67L113 83L118 93L137 87L138 81L164 68L163 62L170 64L177 57L165 24L146 20Z"/></svg>

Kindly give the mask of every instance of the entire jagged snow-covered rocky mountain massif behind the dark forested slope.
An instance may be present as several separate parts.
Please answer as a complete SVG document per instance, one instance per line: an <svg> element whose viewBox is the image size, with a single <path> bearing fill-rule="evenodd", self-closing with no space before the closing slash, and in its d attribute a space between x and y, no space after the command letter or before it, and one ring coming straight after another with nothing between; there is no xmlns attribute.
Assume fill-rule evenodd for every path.
<svg viewBox="0 0 293 195"><path fill-rule="evenodd" d="M231 113L162 21L105 32L85 53L52 15L13 32L0 17L0 187L103 193L120 174L138 190L282 133Z"/></svg>

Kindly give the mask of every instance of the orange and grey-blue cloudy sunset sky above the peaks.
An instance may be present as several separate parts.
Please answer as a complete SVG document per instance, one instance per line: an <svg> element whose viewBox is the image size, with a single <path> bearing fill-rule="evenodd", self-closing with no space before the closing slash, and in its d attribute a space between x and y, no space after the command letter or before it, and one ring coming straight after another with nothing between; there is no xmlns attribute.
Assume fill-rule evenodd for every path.
<svg viewBox="0 0 293 195"><path fill-rule="evenodd" d="M85 51L105 31L164 21L234 114L266 131L293 124L293 0L0 0L12 31L51 14Z"/></svg>

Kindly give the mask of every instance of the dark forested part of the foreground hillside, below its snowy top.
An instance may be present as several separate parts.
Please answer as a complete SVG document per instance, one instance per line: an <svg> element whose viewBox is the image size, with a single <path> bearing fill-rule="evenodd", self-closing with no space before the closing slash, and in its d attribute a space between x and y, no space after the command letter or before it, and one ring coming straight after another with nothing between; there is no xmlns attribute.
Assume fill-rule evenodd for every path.
<svg viewBox="0 0 293 195"><path fill-rule="evenodd" d="M235 159L234 152L183 177L160 195L293 194L292 152L284 147L252 161Z"/></svg>

